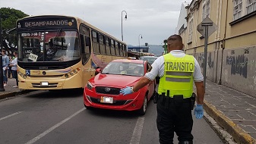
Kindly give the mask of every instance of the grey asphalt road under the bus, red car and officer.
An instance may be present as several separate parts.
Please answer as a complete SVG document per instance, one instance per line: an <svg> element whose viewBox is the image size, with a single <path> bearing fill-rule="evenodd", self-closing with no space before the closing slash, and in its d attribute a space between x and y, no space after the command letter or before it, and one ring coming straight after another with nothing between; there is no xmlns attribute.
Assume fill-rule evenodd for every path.
<svg viewBox="0 0 256 144"><path fill-rule="evenodd" d="M204 119L194 119L193 135L195 144L223 143ZM156 144L156 105L139 116L87 110L81 92L30 92L0 101L0 143Z"/></svg>

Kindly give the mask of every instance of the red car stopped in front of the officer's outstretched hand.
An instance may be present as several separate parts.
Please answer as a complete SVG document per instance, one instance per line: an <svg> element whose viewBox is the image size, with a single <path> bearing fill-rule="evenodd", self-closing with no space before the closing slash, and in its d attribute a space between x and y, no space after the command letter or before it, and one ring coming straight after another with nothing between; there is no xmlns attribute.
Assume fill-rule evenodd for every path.
<svg viewBox="0 0 256 144"><path fill-rule="evenodd" d="M122 95L120 89L134 86L148 70L147 61L118 59L113 60L106 67L91 78L84 87L84 106L90 108L104 108L112 110L138 111L145 114L147 102L154 92L155 82L137 92Z"/></svg>

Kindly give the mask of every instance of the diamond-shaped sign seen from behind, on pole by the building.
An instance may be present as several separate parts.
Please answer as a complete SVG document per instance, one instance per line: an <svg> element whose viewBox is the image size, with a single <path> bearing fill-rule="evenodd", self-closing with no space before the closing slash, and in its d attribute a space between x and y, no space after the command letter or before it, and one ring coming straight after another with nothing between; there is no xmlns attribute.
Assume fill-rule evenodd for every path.
<svg viewBox="0 0 256 144"><path fill-rule="evenodd" d="M208 36L210 36L211 34L213 34L213 32L215 32L215 30L217 29L217 26L215 23L213 23L212 20L210 20L209 17L206 17L200 24L198 24L198 32L201 33L202 36L205 37L205 27L203 26L204 24L209 24L212 23L211 26L208 26ZM207 36L207 37L208 37Z"/></svg>

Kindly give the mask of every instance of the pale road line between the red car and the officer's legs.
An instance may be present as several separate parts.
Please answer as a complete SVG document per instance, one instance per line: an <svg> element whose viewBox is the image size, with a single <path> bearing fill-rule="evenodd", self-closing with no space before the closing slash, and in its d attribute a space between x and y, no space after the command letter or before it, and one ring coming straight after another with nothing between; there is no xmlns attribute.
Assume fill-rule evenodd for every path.
<svg viewBox="0 0 256 144"><path fill-rule="evenodd" d="M132 133L130 144L139 144L140 143L144 119L145 119L145 117L137 118L137 123L135 125L134 132Z"/></svg>

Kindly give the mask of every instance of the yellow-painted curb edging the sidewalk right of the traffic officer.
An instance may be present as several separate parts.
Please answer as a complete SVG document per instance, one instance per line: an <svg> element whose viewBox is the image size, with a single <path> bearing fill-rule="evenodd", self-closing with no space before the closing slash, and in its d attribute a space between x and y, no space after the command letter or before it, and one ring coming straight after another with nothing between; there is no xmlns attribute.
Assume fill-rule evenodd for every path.
<svg viewBox="0 0 256 144"><path fill-rule="evenodd" d="M239 144L255 144L256 141L248 133L245 133L241 127L229 120L221 111L217 110L214 105L204 100L204 110L207 114L216 121L221 127L223 127L230 135L235 139L235 142Z"/></svg>

